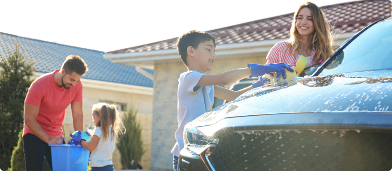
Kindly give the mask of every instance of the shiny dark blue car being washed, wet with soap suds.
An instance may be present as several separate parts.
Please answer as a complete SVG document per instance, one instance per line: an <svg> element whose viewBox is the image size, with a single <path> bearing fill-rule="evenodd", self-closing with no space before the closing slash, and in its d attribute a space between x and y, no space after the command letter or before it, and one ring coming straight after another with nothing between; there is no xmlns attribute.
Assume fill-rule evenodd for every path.
<svg viewBox="0 0 392 171"><path fill-rule="evenodd" d="M179 171L390 171L392 18L310 77L265 85L184 130Z"/></svg>

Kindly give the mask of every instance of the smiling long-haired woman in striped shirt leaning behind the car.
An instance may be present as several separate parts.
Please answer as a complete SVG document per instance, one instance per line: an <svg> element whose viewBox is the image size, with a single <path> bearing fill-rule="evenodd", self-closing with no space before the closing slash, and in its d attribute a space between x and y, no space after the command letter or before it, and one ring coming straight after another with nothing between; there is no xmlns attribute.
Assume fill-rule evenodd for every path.
<svg viewBox="0 0 392 171"><path fill-rule="evenodd" d="M293 64L303 55L309 59L309 66L327 60L332 53L332 37L324 13L316 4L306 2L294 14L290 39L272 47L267 64Z"/></svg>

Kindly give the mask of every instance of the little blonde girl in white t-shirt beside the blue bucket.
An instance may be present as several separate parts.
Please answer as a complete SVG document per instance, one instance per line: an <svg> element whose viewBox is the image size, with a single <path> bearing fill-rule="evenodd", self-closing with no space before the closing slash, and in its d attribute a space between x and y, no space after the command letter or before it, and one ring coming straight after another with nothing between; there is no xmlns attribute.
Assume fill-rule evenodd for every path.
<svg viewBox="0 0 392 171"><path fill-rule="evenodd" d="M91 151L91 171L113 171L112 154L116 148L117 134L123 123L114 105L98 103L93 106L93 122L97 127L90 143L80 144Z"/></svg>

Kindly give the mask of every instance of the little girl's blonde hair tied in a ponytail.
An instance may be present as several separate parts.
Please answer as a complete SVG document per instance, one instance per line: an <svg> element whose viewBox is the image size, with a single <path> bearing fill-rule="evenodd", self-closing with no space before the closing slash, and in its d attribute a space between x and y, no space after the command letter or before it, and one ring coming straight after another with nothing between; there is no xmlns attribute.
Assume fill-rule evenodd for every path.
<svg viewBox="0 0 392 171"><path fill-rule="evenodd" d="M98 126L101 127L102 139L106 139L111 133L112 137L123 133L123 122L119 116L116 106L107 103L98 103L93 105L93 114L100 117ZM109 132L109 127L112 130Z"/></svg>

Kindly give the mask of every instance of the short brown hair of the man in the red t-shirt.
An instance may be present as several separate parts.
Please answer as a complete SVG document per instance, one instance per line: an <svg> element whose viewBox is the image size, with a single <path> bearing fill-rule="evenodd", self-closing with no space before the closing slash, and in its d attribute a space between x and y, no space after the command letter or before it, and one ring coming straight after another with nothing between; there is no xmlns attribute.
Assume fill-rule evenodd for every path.
<svg viewBox="0 0 392 171"><path fill-rule="evenodd" d="M89 70L83 59L77 55L68 55L61 69L64 69L67 74L76 72L79 75L84 75Z"/></svg>

